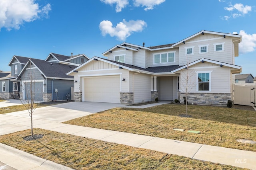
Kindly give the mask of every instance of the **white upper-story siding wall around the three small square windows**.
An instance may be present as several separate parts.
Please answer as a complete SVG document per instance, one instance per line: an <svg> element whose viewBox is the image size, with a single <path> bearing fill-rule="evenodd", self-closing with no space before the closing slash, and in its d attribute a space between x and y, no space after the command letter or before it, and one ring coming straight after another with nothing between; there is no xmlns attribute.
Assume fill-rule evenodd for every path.
<svg viewBox="0 0 256 170"><path fill-rule="evenodd" d="M199 37L203 37L200 35ZM207 37L206 37L207 38ZM194 40L196 40L194 38ZM223 48L224 51L214 51L214 44L224 43ZM200 45L208 45L208 52L207 53L199 53L200 52ZM186 55L186 48L193 47L194 54ZM204 39L200 41L188 41L185 44L179 45L179 53L180 53L180 63L179 65L186 65L188 63L192 63L198 59L206 58L215 61L220 61L224 63L233 64L233 48L234 45L232 43L231 37L223 38L223 36L218 37L216 39Z"/></svg>

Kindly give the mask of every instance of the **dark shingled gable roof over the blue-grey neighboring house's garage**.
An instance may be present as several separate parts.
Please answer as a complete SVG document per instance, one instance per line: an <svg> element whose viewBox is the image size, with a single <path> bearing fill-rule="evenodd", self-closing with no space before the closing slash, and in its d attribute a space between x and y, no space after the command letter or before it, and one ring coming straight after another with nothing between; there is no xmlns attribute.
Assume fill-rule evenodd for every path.
<svg viewBox="0 0 256 170"><path fill-rule="evenodd" d="M57 79L66 79L73 80L73 76L66 75L67 72L73 70L77 66L61 64L61 63L51 63L48 61L40 59L29 59L27 64L24 66L18 77L22 74L23 70L26 69L28 63L31 62L36 68L44 75L44 78L57 78Z"/></svg>

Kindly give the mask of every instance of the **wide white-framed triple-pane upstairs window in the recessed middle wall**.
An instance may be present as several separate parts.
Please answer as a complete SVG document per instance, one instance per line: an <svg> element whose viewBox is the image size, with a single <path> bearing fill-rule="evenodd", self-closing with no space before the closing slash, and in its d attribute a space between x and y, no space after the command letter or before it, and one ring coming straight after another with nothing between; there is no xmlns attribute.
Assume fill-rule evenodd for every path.
<svg viewBox="0 0 256 170"><path fill-rule="evenodd" d="M154 64L158 63L170 63L175 61L175 52L166 52L160 54L153 54L154 55Z"/></svg>

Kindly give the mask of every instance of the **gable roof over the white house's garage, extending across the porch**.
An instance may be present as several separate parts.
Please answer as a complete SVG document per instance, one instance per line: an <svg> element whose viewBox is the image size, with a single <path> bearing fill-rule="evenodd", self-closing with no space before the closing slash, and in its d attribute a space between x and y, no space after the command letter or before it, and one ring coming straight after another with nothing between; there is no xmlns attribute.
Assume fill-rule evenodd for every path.
<svg viewBox="0 0 256 170"><path fill-rule="evenodd" d="M100 57L93 57L92 59L90 59L86 63L81 64L80 66L78 66L74 70L71 70L70 72L68 72L67 75L71 74L72 72L74 72L76 70L78 70L79 68L83 67L84 65L94 61L95 59L100 60L100 61L104 61L106 63L114 64L116 66L120 66L122 68L131 70L131 71L140 71L140 72L144 72L146 74L160 74L160 73L172 74L172 72L171 72L172 70L175 70L177 68L182 67L182 66L179 66L179 65L172 65L172 66L156 66L156 67L141 68L141 67L134 66L134 65L131 65L131 64L120 63L118 61L112 61L112 60L103 59L103 58L100 58Z"/></svg>

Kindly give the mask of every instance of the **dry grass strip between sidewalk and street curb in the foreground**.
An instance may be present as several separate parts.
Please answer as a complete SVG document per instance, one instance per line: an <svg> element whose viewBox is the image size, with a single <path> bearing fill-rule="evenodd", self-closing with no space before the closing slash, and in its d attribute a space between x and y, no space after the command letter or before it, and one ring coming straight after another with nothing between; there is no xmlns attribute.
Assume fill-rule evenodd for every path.
<svg viewBox="0 0 256 170"><path fill-rule="evenodd" d="M0 143L79 170L242 169L42 129L34 129L34 133L44 137L25 141L23 137L30 135L26 130L0 136Z"/></svg>

